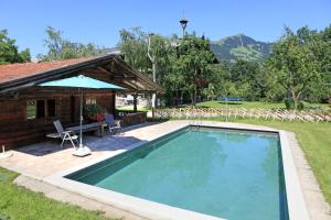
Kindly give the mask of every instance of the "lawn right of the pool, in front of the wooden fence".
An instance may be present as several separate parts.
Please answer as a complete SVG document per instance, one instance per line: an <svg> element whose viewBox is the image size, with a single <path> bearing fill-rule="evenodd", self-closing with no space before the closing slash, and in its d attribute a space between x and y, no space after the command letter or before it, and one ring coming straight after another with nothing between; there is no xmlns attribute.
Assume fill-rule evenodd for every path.
<svg viewBox="0 0 331 220"><path fill-rule="evenodd" d="M224 118L206 120L224 121ZM331 205L331 123L268 121L263 119L231 119L229 121L295 132L321 190Z"/></svg>

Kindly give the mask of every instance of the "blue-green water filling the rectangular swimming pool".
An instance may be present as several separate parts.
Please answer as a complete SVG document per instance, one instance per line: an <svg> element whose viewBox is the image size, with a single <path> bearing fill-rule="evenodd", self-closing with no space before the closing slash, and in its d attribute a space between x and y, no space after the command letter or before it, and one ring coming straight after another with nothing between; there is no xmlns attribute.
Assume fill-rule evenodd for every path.
<svg viewBox="0 0 331 220"><path fill-rule="evenodd" d="M225 219L287 219L273 133L183 129L67 178Z"/></svg>

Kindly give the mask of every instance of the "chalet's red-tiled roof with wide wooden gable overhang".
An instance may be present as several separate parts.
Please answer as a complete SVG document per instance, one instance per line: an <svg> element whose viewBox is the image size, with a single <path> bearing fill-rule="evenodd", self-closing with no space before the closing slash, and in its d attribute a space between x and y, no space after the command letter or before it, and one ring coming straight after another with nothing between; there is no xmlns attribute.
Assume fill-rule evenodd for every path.
<svg viewBox="0 0 331 220"><path fill-rule="evenodd" d="M0 65L0 94L71 77L82 72L94 73L96 76L104 73L109 80L126 87L128 91L164 92L158 84L134 69L119 55L108 54L56 62Z"/></svg>

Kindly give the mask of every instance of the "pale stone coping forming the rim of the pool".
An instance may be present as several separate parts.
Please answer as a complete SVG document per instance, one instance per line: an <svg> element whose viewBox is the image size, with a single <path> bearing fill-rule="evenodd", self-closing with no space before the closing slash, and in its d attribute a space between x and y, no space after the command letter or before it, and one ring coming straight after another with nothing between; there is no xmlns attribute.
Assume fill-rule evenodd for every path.
<svg viewBox="0 0 331 220"><path fill-rule="evenodd" d="M64 172L58 172L54 175L44 177L42 180L51 184L53 186L63 188L71 193L78 194L81 196L85 196L97 201L107 204L120 210L140 216L147 219L206 219L206 220L215 220L222 219L217 217L212 217L209 215L203 215L177 207L171 207L168 205L137 198L129 195L124 195L120 193L116 193L108 189L103 189L99 187L90 186L87 184L83 184L79 182L71 180L65 178L65 176L75 173L82 168L90 166L93 164L99 163L113 156L116 156L125 151L129 151L136 147L139 147L149 141L153 141L169 133L175 132L180 129L183 129L190 124L181 124L175 129L169 130L167 132L160 133L148 141L140 141L138 143L129 145L126 150L121 152L111 153L109 155L93 160L90 162L81 164L79 166L70 168ZM286 131L276 130L271 128L257 128L247 124L211 124L209 122L202 122L201 127L205 128L215 128L215 129L229 129L229 130L245 130L245 131L257 131L257 132L267 132L267 133L278 133L281 146L281 157L282 157L282 166L284 166L284 177L286 185L286 195L287 195L287 204L288 204L288 215L291 220L308 220L309 215L307 211L306 202L303 199L299 177L297 174L297 169L295 166L295 161L291 154L290 144L288 140L288 135Z"/></svg>

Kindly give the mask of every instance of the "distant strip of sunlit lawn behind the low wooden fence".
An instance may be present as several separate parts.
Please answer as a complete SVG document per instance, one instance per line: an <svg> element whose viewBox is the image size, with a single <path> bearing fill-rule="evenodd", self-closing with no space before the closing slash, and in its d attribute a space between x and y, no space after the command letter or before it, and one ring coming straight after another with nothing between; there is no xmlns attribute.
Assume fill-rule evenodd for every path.
<svg viewBox="0 0 331 220"><path fill-rule="evenodd" d="M205 108L225 108L225 101L204 101L196 103L197 107ZM305 102L305 107L322 107L327 108L328 105L322 103L308 103ZM285 108L284 102L263 102L263 101L229 101L228 108L245 108L245 109L274 109L274 108Z"/></svg>

